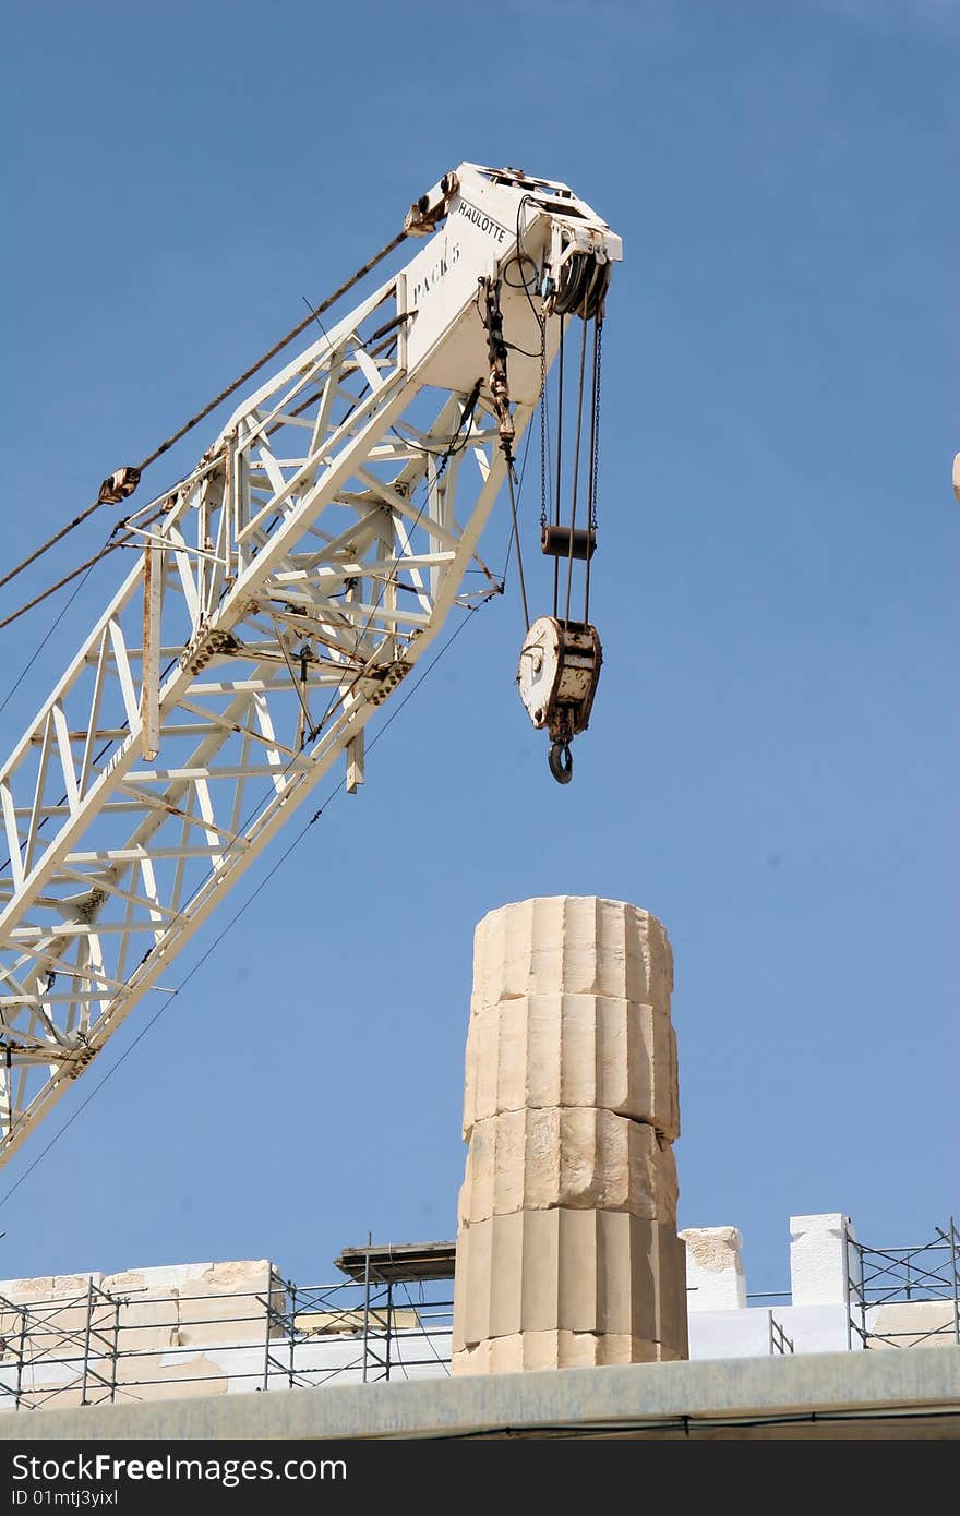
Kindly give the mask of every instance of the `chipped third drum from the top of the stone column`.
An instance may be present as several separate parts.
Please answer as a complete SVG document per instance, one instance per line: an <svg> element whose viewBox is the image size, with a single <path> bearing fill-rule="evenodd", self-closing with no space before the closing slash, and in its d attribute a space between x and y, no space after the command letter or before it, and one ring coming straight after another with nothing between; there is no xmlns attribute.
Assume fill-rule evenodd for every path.
<svg viewBox="0 0 960 1516"><path fill-rule="evenodd" d="M551 1207L629 1211L673 1225L673 1151L652 1126L596 1107L505 1111L476 1122L458 1220L475 1225Z"/></svg>

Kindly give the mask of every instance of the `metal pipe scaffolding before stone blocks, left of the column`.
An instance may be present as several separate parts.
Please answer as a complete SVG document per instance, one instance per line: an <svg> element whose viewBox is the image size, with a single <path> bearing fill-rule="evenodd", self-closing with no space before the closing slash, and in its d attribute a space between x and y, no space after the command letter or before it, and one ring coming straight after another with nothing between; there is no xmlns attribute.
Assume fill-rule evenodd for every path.
<svg viewBox="0 0 960 1516"><path fill-rule="evenodd" d="M453 1302L438 1260L419 1278L378 1267L378 1249L350 1252L365 1255L362 1273L335 1284L270 1269L255 1292L111 1293L91 1280L82 1295L0 1296L0 1411L449 1375Z"/></svg>

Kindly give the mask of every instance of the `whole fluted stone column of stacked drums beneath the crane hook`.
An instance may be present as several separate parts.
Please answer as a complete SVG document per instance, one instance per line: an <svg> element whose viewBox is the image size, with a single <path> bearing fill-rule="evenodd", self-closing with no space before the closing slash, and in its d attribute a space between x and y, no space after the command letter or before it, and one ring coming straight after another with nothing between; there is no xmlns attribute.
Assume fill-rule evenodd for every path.
<svg viewBox="0 0 960 1516"><path fill-rule="evenodd" d="M476 928L455 1373L687 1357L672 987L663 925L620 901Z"/></svg>

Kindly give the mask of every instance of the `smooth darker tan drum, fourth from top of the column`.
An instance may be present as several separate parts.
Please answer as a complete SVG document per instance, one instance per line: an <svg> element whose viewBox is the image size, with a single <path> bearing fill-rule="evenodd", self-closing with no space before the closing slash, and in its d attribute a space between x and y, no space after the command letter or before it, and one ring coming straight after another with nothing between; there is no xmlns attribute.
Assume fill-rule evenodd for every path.
<svg viewBox="0 0 960 1516"><path fill-rule="evenodd" d="M453 1351L566 1330L663 1340L685 1357L682 1278L672 1225L566 1208L493 1216L458 1236Z"/></svg>

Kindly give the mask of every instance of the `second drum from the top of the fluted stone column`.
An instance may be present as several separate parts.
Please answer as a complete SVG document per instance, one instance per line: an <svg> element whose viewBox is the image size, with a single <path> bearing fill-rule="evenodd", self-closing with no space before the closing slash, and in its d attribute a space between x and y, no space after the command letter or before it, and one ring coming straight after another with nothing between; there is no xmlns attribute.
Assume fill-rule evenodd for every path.
<svg viewBox="0 0 960 1516"><path fill-rule="evenodd" d="M531 994L470 1017L464 1137L528 1107L587 1105L679 1135L676 1038L666 1008L596 994Z"/></svg>

